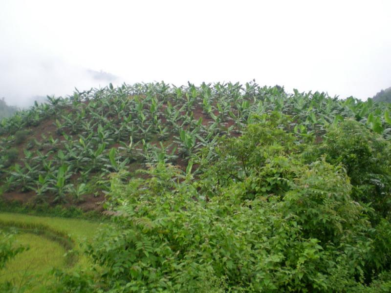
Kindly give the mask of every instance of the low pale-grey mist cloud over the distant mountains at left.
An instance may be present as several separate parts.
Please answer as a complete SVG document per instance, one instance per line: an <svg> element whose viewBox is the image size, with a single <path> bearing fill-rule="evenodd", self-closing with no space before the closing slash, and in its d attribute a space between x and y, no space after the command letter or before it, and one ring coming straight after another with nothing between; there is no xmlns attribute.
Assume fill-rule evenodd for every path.
<svg viewBox="0 0 391 293"><path fill-rule="evenodd" d="M0 59L0 97L8 105L26 107L35 96L65 96L91 87L104 87L121 79L102 70L96 71L67 63L60 58L23 54Z"/></svg>

